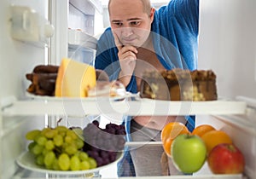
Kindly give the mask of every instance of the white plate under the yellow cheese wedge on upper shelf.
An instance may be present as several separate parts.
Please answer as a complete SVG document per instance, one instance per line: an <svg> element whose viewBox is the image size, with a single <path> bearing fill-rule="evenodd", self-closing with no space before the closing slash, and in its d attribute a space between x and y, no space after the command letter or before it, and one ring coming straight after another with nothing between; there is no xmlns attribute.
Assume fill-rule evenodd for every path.
<svg viewBox="0 0 256 179"><path fill-rule="evenodd" d="M26 97L34 100L47 100L47 101L119 101L126 98L132 97L130 92L126 95L117 96L95 96L95 97L55 97L49 95L34 95L32 93L26 92Z"/></svg>

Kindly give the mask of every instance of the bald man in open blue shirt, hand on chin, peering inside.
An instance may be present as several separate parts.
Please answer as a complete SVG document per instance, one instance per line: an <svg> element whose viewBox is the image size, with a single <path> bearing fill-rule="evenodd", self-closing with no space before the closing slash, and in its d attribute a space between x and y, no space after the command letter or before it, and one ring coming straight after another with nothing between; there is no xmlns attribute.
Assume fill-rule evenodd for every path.
<svg viewBox="0 0 256 179"><path fill-rule="evenodd" d="M98 41L95 66L107 72L111 80L118 79L126 90L137 93L144 70L195 70L199 0L171 0L158 10L151 7L149 0L110 0L108 12L111 28ZM195 127L195 118L191 117L133 116L125 119L127 140L160 141L160 130L172 121L186 124L189 130ZM131 151L137 176L161 173L155 159L160 160L162 150L148 150L141 147ZM125 154L129 159L129 153ZM119 175L131 175L125 172L131 172L132 165L131 170L123 170L122 165L125 160Z"/></svg>

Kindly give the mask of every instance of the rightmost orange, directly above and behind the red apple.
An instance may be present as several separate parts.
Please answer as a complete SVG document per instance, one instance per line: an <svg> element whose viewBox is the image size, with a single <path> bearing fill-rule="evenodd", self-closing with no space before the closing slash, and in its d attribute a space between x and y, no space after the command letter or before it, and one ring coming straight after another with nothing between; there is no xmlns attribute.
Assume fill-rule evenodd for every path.
<svg viewBox="0 0 256 179"><path fill-rule="evenodd" d="M207 153L210 153L212 148L221 143L232 143L230 136L222 130L211 130L201 136L201 139L207 146Z"/></svg>

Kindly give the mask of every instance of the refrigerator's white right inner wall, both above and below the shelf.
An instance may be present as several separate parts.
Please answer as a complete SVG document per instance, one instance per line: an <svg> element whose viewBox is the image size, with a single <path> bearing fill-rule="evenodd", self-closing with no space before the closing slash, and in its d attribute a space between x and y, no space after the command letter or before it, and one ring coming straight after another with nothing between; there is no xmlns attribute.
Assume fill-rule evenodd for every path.
<svg viewBox="0 0 256 179"><path fill-rule="evenodd" d="M218 97L247 101L247 117L225 117L229 122L224 125L224 130L234 137L243 153L252 154L246 157L247 173L252 178L255 177L256 160L253 152L256 130L255 8L256 2L252 0L201 1L198 49L198 68L212 69L217 74ZM221 124L217 121L199 118L197 123ZM247 127L241 129L240 126Z"/></svg>

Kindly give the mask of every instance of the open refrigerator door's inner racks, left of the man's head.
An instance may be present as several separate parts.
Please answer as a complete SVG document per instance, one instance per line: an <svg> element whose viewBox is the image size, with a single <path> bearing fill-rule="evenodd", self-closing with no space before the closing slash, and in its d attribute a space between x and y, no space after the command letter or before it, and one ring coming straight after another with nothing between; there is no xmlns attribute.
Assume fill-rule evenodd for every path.
<svg viewBox="0 0 256 179"><path fill-rule="evenodd" d="M70 0L68 7L68 57L93 65L96 55L96 38L101 29L99 2ZM99 15L100 14L100 15Z"/></svg>

